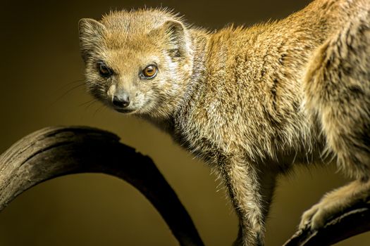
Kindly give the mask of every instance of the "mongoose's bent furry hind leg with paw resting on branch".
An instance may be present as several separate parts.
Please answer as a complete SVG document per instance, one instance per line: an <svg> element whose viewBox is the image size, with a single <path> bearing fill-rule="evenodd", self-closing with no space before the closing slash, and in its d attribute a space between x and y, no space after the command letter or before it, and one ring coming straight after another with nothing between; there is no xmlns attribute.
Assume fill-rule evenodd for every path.
<svg viewBox="0 0 370 246"><path fill-rule="evenodd" d="M356 179L333 190L302 216L300 228L323 226L370 195L370 12L354 17L314 54L304 81L307 112L317 120L328 152Z"/></svg>

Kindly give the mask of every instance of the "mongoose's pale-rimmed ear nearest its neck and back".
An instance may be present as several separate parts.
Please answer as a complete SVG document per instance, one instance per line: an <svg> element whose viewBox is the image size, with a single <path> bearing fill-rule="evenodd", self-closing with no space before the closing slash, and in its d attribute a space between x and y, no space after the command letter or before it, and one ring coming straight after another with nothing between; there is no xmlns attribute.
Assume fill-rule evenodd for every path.
<svg viewBox="0 0 370 246"><path fill-rule="evenodd" d="M168 53L172 58L185 58L189 55L190 41L183 23L167 20L161 30L168 40Z"/></svg>

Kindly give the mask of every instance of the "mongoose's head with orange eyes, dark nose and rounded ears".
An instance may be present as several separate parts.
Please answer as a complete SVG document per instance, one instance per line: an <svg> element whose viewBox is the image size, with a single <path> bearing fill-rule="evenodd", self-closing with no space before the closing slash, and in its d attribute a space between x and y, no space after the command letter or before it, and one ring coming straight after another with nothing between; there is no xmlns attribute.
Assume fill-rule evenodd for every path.
<svg viewBox="0 0 370 246"><path fill-rule="evenodd" d="M119 11L79 22L87 88L118 112L168 117L192 72L190 34L159 9Z"/></svg>

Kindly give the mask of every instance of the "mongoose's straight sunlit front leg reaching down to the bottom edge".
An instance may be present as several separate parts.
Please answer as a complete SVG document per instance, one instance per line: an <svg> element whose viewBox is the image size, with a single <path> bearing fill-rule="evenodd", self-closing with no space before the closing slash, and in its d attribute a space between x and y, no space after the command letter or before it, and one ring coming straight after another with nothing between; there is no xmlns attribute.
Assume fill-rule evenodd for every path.
<svg viewBox="0 0 370 246"><path fill-rule="evenodd" d="M257 167L238 157L221 163L220 172L239 217L240 228L234 245L264 245L264 219L269 210L275 177L266 175L261 182Z"/></svg>

